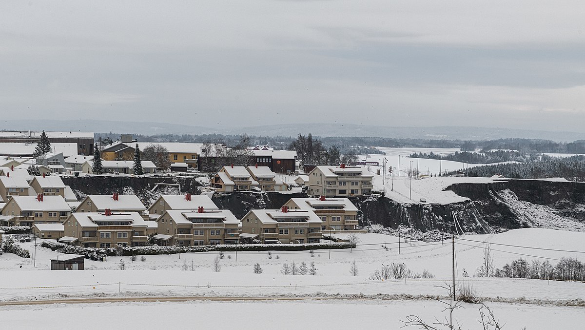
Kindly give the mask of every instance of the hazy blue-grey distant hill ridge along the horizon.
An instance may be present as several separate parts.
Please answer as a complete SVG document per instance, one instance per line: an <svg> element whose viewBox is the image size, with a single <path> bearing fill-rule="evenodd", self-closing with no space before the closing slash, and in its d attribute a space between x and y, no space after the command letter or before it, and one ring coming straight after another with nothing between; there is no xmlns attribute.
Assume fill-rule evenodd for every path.
<svg viewBox="0 0 585 330"><path fill-rule="evenodd" d="M387 127L356 124L278 124L252 127L199 127L191 125L123 122L106 120L7 120L0 130L46 130L125 132L142 135L154 134L250 134L263 136L296 136L312 133L321 137L385 137L428 138L433 140L494 140L498 138L532 138L557 142L582 140L585 133L516 130L490 127Z"/></svg>

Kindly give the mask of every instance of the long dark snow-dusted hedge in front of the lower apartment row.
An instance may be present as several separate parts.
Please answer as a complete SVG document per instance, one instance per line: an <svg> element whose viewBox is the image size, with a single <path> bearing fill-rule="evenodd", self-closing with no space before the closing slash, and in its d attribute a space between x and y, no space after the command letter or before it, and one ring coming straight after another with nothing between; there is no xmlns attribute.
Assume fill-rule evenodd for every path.
<svg viewBox="0 0 585 330"><path fill-rule="evenodd" d="M156 254L197 253L211 251L306 251L319 249L350 249L352 243L308 243L308 244L220 244L199 246L128 246L114 248L95 248L70 246L63 243L43 241L42 247L67 254L83 254L85 257L141 256Z"/></svg>

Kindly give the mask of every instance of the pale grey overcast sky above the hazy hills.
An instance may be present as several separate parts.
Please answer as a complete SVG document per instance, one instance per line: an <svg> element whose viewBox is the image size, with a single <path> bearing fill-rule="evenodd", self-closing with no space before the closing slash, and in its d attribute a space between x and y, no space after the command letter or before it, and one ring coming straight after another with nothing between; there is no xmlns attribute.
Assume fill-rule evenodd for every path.
<svg viewBox="0 0 585 330"><path fill-rule="evenodd" d="M0 113L584 132L585 2L2 1Z"/></svg>

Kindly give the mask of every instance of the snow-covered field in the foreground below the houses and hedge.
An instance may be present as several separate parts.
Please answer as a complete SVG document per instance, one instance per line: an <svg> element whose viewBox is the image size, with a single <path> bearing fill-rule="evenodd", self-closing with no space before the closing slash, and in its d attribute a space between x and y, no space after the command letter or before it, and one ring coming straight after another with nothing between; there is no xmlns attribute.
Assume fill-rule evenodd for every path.
<svg viewBox="0 0 585 330"><path fill-rule="evenodd" d="M294 302L124 302L88 305L35 305L0 307L3 328L59 328L60 311L66 312L68 322L87 324L88 328L108 325L129 328L154 328L160 326L187 325L193 318L168 317L168 315L195 315L198 324L220 322L219 328L237 325L242 329L256 329L259 324L271 328L299 328L306 324L319 324L326 328L359 328L364 320L370 328L398 328L400 319L419 314L433 319L443 315L443 305L422 296L444 296L446 291L436 285L450 281L452 274L452 245L450 241L425 243L401 240L383 234L359 234L356 249L273 252L225 253L221 271L212 271L211 264L217 253L188 253L170 256L140 257L133 263L129 257L109 257L105 262L85 261L84 271L50 271L50 258L59 253L37 247L36 267L33 260L22 259L5 253L0 257L0 300L36 300L47 298L83 296L291 296L321 297L329 295L366 295L375 298L367 301L328 300ZM469 281L486 299L508 329L572 328L583 324L583 307L559 305L560 300L571 300L583 305L585 285L575 282L510 279L510 278L463 278L463 268L473 275L483 257L483 247L491 243L495 266L501 268L519 257L528 260L538 256L554 259L576 257L583 259L581 242L585 233L550 229L517 229L501 234L465 235L456 239L456 281ZM34 254L32 243L20 243ZM535 250L510 247L512 244L526 247L546 247ZM386 250L382 246L388 247ZM518 255L521 254L521 255ZM278 258L277 258L278 256ZM120 270L120 261L125 270ZM350 274L350 263L356 261L357 276ZM301 262L314 262L317 275L284 275L280 270L284 263L297 266ZM541 259L542 261L542 259ZM259 263L262 274L253 274L253 264ZM407 280L367 280L370 273L382 264L405 263L415 273L429 270L435 278L408 278ZM22 268L20 267L22 266ZM187 270L182 270L183 267ZM191 270L193 269L193 270ZM120 293L119 293L120 292ZM382 294L383 296L376 296ZM407 294L412 297L384 295ZM396 301L396 300L399 301ZM549 300L550 302L547 302ZM577 300L577 301L575 301ZM581 300L581 301L579 301ZM560 304L563 304L560 302ZM83 310L82 310L83 309ZM477 328L479 305L466 304L456 312L456 318L464 328ZM35 318L26 317L35 311ZM230 323L223 323L229 315ZM302 315L302 317L294 317ZM326 320L331 316L331 321ZM356 318L355 315L362 317ZM366 317L367 315L367 317ZM267 317L269 316L269 317ZM100 319L99 324L87 319ZM54 320L54 321L53 321ZM215 320L215 321L214 321ZM286 320L283 322L283 320ZM103 322L102 322L103 321ZM576 323L575 323L576 322ZM224 326L225 324L225 326ZM574 327L573 327L574 328Z"/></svg>

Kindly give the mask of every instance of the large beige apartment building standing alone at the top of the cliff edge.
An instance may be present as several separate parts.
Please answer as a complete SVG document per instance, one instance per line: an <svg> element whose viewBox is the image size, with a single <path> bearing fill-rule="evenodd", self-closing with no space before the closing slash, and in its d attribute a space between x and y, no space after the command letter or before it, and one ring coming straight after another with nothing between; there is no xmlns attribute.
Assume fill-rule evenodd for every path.
<svg viewBox="0 0 585 330"><path fill-rule="evenodd" d="M308 175L308 193L316 196L362 196L374 188L374 176L364 166L319 165Z"/></svg>

